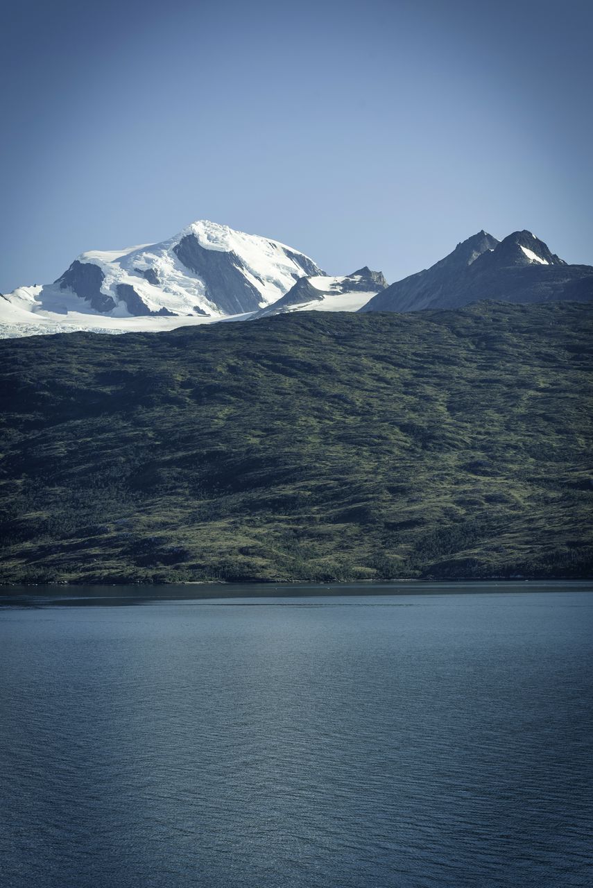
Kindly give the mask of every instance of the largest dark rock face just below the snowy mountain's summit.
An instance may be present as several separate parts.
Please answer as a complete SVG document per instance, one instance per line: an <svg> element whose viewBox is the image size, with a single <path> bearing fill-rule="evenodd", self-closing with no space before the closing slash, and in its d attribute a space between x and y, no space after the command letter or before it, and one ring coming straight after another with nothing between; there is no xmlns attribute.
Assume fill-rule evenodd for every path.
<svg viewBox="0 0 593 888"><path fill-rule="evenodd" d="M200 275L206 297L225 314L257 311L261 293L247 280L245 266L233 252L207 250L193 234L181 238L173 252L186 268Z"/></svg>

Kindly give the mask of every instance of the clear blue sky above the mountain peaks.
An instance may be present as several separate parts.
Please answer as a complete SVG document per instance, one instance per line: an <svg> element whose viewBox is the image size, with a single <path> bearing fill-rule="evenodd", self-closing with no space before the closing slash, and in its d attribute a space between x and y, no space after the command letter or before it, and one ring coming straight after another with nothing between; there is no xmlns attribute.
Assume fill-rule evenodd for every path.
<svg viewBox="0 0 593 888"><path fill-rule="evenodd" d="M13 0L0 291L196 218L389 281L486 228L593 264L593 6Z"/></svg>

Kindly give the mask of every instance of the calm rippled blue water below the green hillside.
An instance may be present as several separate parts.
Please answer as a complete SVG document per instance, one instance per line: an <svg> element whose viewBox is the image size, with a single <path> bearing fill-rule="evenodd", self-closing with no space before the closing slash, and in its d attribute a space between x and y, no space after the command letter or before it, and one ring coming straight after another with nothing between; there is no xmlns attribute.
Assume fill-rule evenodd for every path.
<svg viewBox="0 0 593 888"><path fill-rule="evenodd" d="M589 888L591 588L0 590L3 888Z"/></svg>

